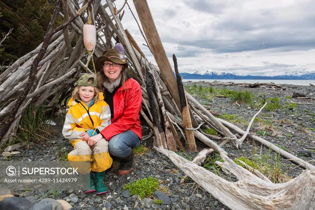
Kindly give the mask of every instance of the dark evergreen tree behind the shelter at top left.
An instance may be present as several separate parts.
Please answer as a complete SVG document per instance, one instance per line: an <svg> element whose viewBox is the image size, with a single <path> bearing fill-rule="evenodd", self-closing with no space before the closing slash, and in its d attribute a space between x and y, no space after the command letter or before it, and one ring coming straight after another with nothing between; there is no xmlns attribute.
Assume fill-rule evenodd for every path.
<svg viewBox="0 0 315 210"><path fill-rule="evenodd" d="M16 61L43 42L54 8L55 3L50 0L0 1L0 36L13 28L2 43L0 64ZM61 23L60 17L58 25Z"/></svg>

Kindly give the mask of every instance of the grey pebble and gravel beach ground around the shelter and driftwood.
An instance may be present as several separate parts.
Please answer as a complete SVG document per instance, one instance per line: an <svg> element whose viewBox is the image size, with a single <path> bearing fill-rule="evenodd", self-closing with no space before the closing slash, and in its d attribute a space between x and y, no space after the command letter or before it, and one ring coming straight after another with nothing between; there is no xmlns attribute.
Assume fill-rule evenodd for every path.
<svg viewBox="0 0 315 210"><path fill-rule="evenodd" d="M205 82L185 82L184 86L188 90L193 85L207 87ZM311 156L306 156L298 152L303 149L315 149L315 100L306 101L305 99L289 98L292 91L303 93L308 97L314 97L315 87L312 86L297 86L297 85L283 85L287 90L263 90L250 89L237 86L214 87L226 88L234 91L249 90L255 96L262 96L266 91L268 94L265 97L281 98L282 108L273 112L263 110L259 115L261 120L272 120L273 131L264 133L264 139L270 141L275 145L282 145L282 148L297 157L309 161L315 165L315 153L312 151ZM313 95L314 94L314 95ZM285 97L287 96L287 97ZM257 113L257 109L251 108L248 104L240 104L238 106L233 103L229 97L215 97L212 100L201 98L198 95L193 96L201 104L210 106L211 110L215 110L220 114L233 115L237 121L233 123L242 130L246 130L247 124ZM311 105L298 104L297 106L289 106L293 102L311 103ZM57 124L57 126L60 126ZM61 125L62 126L62 125ZM255 121L251 126L250 133L259 133L262 130L261 124ZM61 131L60 131L61 132ZM148 130L143 135L149 133ZM235 132L233 132L235 133ZM257 134L258 135L258 134ZM260 135L259 135L260 136ZM262 136L261 136L262 137ZM203 143L196 140L198 150L205 148ZM208 192L203 190L192 181L188 181L184 185L179 185L181 172L167 157L159 154L152 149L152 137L141 143L148 150L142 155L136 155L133 165L133 171L129 175L117 176L117 165L106 173L105 183L108 187L108 192L104 195L96 195L94 193L84 194L82 191L68 190L62 191L58 197L54 197L49 192L45 192L42 188L35 191L14 191L14 196L28 197L33 199L34 204L45 199L53 198L66 201L72 206L71 209L215 209L227 210L229 209L216 198L211 196ZM10 157L0 156L0 160L32 160L32 161L56 161L60 160L60 151L67 153L73 148L61 134L51 139L45 144L30 145L29 149L21 149ZM238 150L232 143L227 143L223 146L231 159L235 157L252 157L253 151L258 149L261 153L268 153L269 156L275 156L273 151L269 151L259 143L254 143L245 139L242 149ZM197 153L188 152L191 158ZM303 171L302 168L296 167L292 162L280 157L280 168L290 178L295 178ZM139 199L137 195L130 195L129 190L122 190L126 183L132 183L138 179L154 177L159 181L160 189L155 193L159 200L162 200L161 205L155 204L151 198ZM236 181L236 177L231 176L231 181ZM164 190L162 190L164 189ZM163 191L163 192L162 192Z"/></svg>

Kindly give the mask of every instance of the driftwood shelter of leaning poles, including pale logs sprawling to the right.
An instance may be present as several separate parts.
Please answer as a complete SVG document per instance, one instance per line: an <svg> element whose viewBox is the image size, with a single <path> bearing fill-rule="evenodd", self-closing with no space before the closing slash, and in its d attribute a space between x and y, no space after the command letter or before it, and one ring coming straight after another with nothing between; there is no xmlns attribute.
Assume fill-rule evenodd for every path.
<svg viewBox="0 0 315 210"><path fill-rule="evenodd" d="M117 37L124 46L128 72L142 88L140 114L152 129L143 138L154 134L157 151L167 155L187 176L231 209L315 209L315 166L251 134L249 130L253 120L247 131L243 131L230 122L216 118L185 92L176 57L173 55L174 64L171 65L147 1L133 0L133 3L143 32L140 25L139 29L157 66L146 59L132 35L123 28L121 20L123 8L129 7L127 1L119 9L114 8L111 0L106 0L105 5L101 5L100 0L58 0L43 43L15 61L0 76L1 144L12 140L21 114L30 104L39 107L48 103L44 108L49 110L54 108L58 98L66 101L80 73L88 71L94 74L91 65L87 67L91 56L95 59L104 50L112 48L112 39ZM54 28L59 15L64 24ZM96 44L93 51L87 53L83 45L83 26L89 19L96 28ZM72 47L74 39L76 45ZM275 86L270 87L274 89ZM213 128L220 137L206 135L200 128ZM180 141L181 137L185 142ZM221 149L228 142L241 148L245 138L265 145L306 170L283 184L273 184L261 173L247 171ZM202 150L192 162L174 152L177 149L197 152L196 140L209 148ZM213 140L222 143L218 145ZM217 161L217 164L237 176L239 181L231 183L198 166L202 165L206 155L214 151L224 160L224 163Z"/></svg>

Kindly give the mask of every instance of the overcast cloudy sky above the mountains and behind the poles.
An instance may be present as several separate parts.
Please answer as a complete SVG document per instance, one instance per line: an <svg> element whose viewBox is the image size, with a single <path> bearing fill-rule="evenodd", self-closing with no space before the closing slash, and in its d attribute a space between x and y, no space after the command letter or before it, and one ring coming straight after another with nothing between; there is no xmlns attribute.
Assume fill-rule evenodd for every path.
<svg viewBox="0 0 315 210"><path fill-rule="evenodd" d="M115 1L116 7L123 0ZM164 49L180 72L203 68L277 75L315 70L314 0L147 0ZM103 1L102 1L103 3ZM105 1L104 1L105 3ZM103 4L104 4L103 3ZM128 3L138 19L133 1ZM128 6L122 24L154 61Z"/></svg>

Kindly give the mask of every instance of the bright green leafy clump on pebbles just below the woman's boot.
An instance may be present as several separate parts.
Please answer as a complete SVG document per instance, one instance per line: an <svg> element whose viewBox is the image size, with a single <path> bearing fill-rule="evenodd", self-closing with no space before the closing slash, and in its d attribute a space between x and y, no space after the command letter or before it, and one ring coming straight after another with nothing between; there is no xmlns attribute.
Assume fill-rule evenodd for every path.
<svg viewBox="0 0 315 210"><path fill-rule="evenodd" d="M147 177L125 184L123 190L129 190L130 195L138 195L139 198L142 199L145 197L152 197L158 187L159 185L156 178Z"/></svg>

